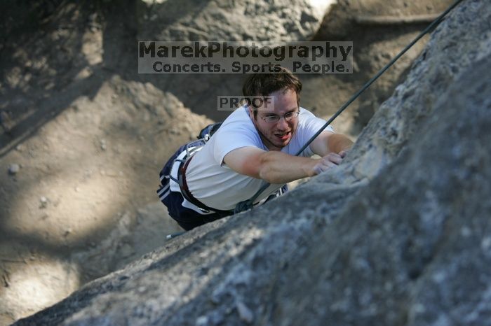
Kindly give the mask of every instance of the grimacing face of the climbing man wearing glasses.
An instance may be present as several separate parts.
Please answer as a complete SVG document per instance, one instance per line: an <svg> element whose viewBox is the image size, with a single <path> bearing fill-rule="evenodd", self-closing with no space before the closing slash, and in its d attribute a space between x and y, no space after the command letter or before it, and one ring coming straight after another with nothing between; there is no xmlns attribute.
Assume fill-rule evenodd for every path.
<svg viewBox="0 0 491 326"><path fill-rule="evenodd" d="M292 140L297 130L298 116L290 121L283 116L287 113L295 113L300 110L297 104L297 94L293 90L278 90L269 94L273 98L273 104L262 105L257 108L257 116L254 118L252 109L249 110L251 120L259 132L262 142L269 150L281 150ZM294 114L295 115L295 114ZM281 117L277 122L267 122L264 119L276 116Z"/></svg>

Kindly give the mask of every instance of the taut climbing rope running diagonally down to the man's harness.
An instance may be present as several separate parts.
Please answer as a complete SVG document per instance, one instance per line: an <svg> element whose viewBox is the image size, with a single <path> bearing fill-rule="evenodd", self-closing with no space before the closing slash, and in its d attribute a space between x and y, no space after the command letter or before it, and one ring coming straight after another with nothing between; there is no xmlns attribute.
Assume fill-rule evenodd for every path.
<svg viewBox="0 0 491 326"><path fill-rule="evenodd" d="M319 134L321 134L321 132L323 132L323 130L326 127L328 127L328 125L330 125L332 123L332 121L334 121L349 106L349 104L353 103L353 101L355 99L357 99L361 95L361 93L363 93L368 87L370 87L370 85L372 85L372 83L374 83L375 80L377 80L380 76L382 76L382 74L387 69L389 69L390 66L392 66L400 57L402 57L404 55L404 53L407 52L412 47L412 45L415 45L415 43L417 41L419 41L420 38L422 38L424 35L428 34L429 32L433 31L433 29L435 29L438 26L438 24L440 24L440 22L442 22L443 17L445 17L445 15L450 13L450 11L453 8L455 8L460 2L462 2L462 0L457 0L454 3L452 3L452 5L450 5L447 8L447 10L445 10L441 15L436 17L436 19L433 20L433 22L431 22L431 24L429 24L428 27L426 27L426 29L424 29L421 33L419 33L418 36L416 36L415 39L413 39L408 45L406 45L406 47L403 48L403 50L401 50L401 52L399 52L398 55L396 55L396 57L392 58L388 64L386 64L382 69L380 69L375 74L375 76L373 76L370 80L368 80L368 82L365 83L365 85L363 85L363 87L361 87L361 89L358 90L358 92L356 92L346 103L344 103L339 108L339 110L334 115L332 115L332 117L328 120L328 122L325 122L325 124L320 129L318 129L318 132L316 132L316 134L314 134L314 136L312 136L311 139L309 139L309 141L307 141L307 143L305 143L304 146L302 146L302 148L300 148L300 150L298 151L297 154L295 154L295 156L300 155L300 153L302 153L305 150L305 148L307 148L307 146L309 146L310 143L312 141L314 141L314 139L316 139L317 136ZM253 195L253 197L251 197L248 200L241 201L240 203L238 203L234 209L234 214L241 213L243 211L248 211L250 208L253 208L254 201L257 199L257 197L259 197L259 195L262 192L264 192L264 190L267 189L267 187L269 187L269 185L270 185L270 183L266 183L265 185L263 185L260 188L260 190L257 190L257 192Z"/></svg>

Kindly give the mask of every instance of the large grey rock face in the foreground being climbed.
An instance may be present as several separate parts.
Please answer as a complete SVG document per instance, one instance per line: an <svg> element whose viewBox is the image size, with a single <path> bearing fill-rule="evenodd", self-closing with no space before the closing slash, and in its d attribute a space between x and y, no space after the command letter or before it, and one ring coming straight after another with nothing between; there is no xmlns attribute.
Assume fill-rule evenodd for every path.
<svg viewBox="0 0 491 326"><path fill-rule="evenodd" d="M455 8L337 169L15 325L491 325L489 21Z"/></svg>

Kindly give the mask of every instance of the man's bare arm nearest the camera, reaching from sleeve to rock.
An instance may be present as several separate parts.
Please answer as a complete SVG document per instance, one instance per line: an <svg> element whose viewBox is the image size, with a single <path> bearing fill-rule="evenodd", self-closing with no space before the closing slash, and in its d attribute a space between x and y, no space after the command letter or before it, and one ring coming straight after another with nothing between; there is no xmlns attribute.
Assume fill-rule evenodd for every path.
<svg viewBox="0 0 491 326"><path fill-rule="evenodd" d="M339 155L320 159L293 156L276 150L242 147L225 155L224 163L237 173L266 180L268 183L289 183L292 180L315 176L341 163Z"/></svg>

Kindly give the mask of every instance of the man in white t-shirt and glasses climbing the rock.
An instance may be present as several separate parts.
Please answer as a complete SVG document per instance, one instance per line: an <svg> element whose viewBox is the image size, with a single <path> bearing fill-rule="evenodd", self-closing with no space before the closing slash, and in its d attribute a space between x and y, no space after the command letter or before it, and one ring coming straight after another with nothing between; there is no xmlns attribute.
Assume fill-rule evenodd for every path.
<svg viewBox="0 0 491 326"><path fill-rule="evenodd" d="M329 126L295 156L325 121L300 107L302 83L283 71L251 74L243 95L262 101L248 101L221 125L203 129L204 140L182 146L162 169L159 198L183 229L231 215L270 183L254 203L262 204L285 192L286 183L331 169L347 155L353 143Z"/></svg>

